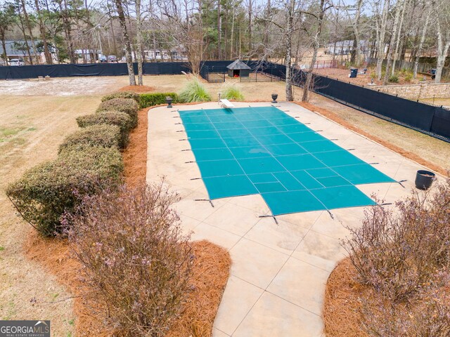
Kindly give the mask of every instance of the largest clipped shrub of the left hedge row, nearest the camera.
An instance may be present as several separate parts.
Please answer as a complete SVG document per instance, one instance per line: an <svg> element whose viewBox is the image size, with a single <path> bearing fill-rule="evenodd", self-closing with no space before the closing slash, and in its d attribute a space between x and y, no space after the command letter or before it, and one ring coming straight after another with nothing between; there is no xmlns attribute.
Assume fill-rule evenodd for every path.
<svg viewBox="0 0 450 337"><path fill-rule="evenodd" d="M40 234L61 232L61 216L72 213L86 195L117 187L122 180L122 155L114 147L78 145L58 159L25 172L6 194L21 216Z"/></svg>

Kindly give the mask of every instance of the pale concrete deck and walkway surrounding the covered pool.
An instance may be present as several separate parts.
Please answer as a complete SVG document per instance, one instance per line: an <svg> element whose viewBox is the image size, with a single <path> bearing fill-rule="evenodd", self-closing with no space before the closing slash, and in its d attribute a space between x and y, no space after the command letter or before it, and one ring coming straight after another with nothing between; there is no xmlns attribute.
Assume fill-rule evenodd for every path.
<svg viewBox="0 0 450 337"><path fill-rule="evenodd" d="M270 103L233 103L262 107ZM423 166L294 103L278 103L286 112L398 183L357 185L370 196L390 203L414 187ZM321 310L325 284L335 263L345 257L340 239L345 226L356 227L364 207L311 211L259 218L269 209L259 194L209 201L186 132L176 110L217 108L217 103L156 107L148 112L147 182L165 182L178 192L175 204L182 226L192 239L207 239L229 250L233 263L214 336L322 336ZM186 150L186 151L184 151ZM200 178L191 180L193 178Z"/></svg>

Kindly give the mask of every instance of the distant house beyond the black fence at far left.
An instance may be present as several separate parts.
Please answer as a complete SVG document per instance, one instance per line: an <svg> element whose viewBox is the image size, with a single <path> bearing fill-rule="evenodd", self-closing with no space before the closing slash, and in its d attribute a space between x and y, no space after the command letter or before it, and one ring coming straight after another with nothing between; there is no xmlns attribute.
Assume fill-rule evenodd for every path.
<svg viewBox="0 0 450 337"><path fill-rule="evenodd" d="M32 41L27 40L27 44L30 47L30 55L28 54L27 50L27 44L25 43L25 40L20 39L10 39L6 40L6 57L8 60L12 60L13 58L20 58L25 61L25 64L30 65L30 55L33 60L36 60L36 58L39 58L40 63L45 63L45 55L44 52L41 51L41 48L37 48L37 53L34 53L33 47L32 47ZM35 46L39 46L41 44L41 41L34 41ZM4 55L4 49L3 46L0 44L0 55ZM56 55L56 49L51 47L51 55L53 60L58 60L58 57ZM35 63L35 62L34 62Z"/></svg>

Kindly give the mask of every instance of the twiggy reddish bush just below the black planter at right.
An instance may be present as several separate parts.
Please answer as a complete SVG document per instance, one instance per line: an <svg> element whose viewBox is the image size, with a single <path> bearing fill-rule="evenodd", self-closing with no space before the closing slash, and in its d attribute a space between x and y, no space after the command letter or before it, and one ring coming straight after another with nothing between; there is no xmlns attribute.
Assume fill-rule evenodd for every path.
<svg viewBox="0 0 450 337"><path fill-rule="evenodd" d="M406 300L450 264L450 180L413 192L394 209L373 206L344 242L360 281Z"/></svg>

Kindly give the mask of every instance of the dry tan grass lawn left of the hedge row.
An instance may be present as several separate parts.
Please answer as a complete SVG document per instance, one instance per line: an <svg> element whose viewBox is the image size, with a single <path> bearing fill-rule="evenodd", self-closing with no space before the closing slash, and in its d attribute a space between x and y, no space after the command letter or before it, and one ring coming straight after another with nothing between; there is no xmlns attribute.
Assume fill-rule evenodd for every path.
<svg viewBox="0 0 450 337"><path fill-rule="evenodd" d="M75 118L99 102L99 96L0 96L0 319L51 319L52 336L72 336L72 300L63 300L71 294L24 255L31 226L15 215L5 189L26 169L56 157L63 138L77 129Z"/></svg>

